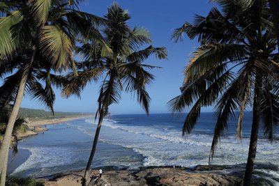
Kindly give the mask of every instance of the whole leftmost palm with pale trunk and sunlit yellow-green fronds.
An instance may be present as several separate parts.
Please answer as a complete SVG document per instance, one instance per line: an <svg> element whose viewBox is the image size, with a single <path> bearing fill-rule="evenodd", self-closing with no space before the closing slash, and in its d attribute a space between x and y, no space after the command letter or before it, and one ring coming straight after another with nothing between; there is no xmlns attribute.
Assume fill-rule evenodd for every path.
<svg viewBox="0 0 279 186"><path fill-rule="evenodd" d="M75 39L86 36L91 22L96 24L102 22L96 16L75 10L77 3L78 1L62 0L3 1L0 3L0 11L3 15L0 18L1 72L5 72L6 68L15 70L13 65L9 65L12 61L23 64L13 76L7 79L9 83L6 81L6 86L8 85L10 93L13 94L6 91L6 95L1 95L0 99L14 100L0 150L1 185L5 184L10 138L24 91L35 85L40 86L35 81L32 84L33 87L29 87L29 83L33 81L33 70L37 68L38 75L41 69L50 65L47 68L46 82L48 83L51 76L50 70L61 71L74 67L72 53L75 48ZM17 59L18 54L26 54L28 60L19 61L22 59ZM36 63L41 63L41 65ZM10 83L15 83L13 84L15 86L10 87ZM49 86L47 83L45 86ZM41 88L43 93L43 87L37 88ZM50 92L47 92L45 98L53 99L51 88L45 87L45 91L47 90ZM30 91L35 91L35 89L30 89ZM40 97L40 93L36 91L33 95ZM13 95L14 98L7 97L9 95Z"/></svg>

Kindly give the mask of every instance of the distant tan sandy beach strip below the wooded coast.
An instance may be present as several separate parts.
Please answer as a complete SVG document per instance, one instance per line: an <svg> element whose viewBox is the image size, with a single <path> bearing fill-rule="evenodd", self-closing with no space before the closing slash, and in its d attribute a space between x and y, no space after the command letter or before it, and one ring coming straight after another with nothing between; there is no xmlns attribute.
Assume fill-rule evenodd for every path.
<svg viewBox="0 0 279 186"><path fill-rule="evenodd" d="M44 119L39 119L38 121L32 121L32 119L29 122L30 127L38 127L42 125L52 125L52 124L60 124L60 123L65 123L67 121L74 121L80 118L90 118L93 117L93 115L82 115L82 116L68 116L66 118L44 118Z"/></svg>

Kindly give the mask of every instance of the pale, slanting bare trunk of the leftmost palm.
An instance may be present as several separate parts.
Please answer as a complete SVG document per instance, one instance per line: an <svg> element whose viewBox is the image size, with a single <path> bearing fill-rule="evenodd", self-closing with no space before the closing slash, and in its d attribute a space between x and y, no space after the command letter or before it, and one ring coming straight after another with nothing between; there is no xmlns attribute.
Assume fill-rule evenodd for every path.
<svg viewBox="0 0 279 186"><path fill-rule="evenodd" d="M33 49L31 64L34 61L35 54L36 54L36 49ZM18 111L20 110L20 104L22 103L22 98L24 95L24 90L25 90L25 86L27 83L27 78L28 78L31 64L27 64L24 67L24 72L22 73L22 79L20 80L20 86L17 90L17 96L15 98L15 103L13 104L13 109L10 113L10 117L8 119L8 124L6 127L6 132L4 134L3 142L1 144L1 150L0 150L1 182L0 182L0 186L4 186L6 183L6 172L7 172L7 166L8 166L8 150L10 147L10 140L12 138L15 120L17 118Z"/></svg>

